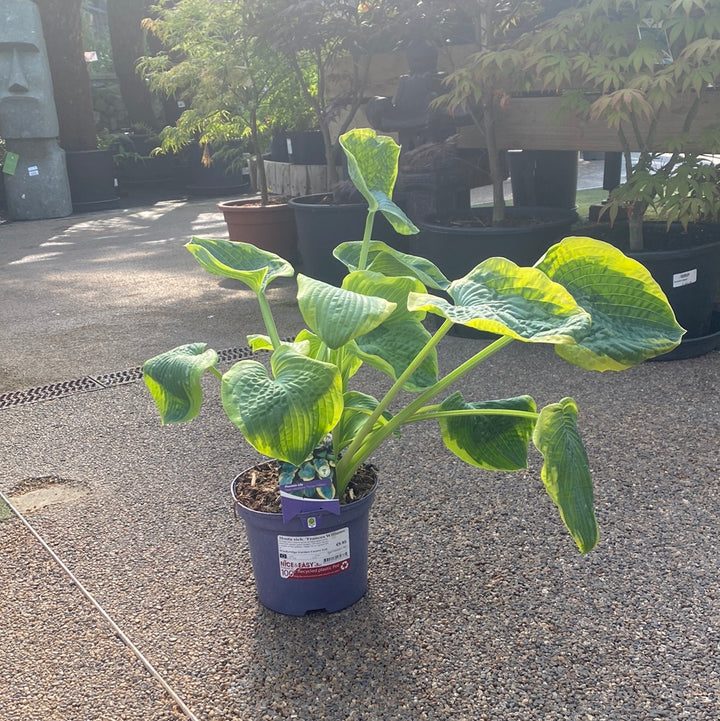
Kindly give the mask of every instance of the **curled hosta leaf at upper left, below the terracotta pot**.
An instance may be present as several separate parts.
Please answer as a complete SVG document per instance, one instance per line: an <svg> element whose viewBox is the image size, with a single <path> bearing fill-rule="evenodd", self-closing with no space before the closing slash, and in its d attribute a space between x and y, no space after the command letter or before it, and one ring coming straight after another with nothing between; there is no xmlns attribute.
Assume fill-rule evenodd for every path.
<svg viewBox="0 0 720 721"><path fill-rule="evenodd" d="M275 278L295 274L292 265L279 255L250 243L193 238L185 247L208 273L240 280L256 294Z"/></svg>

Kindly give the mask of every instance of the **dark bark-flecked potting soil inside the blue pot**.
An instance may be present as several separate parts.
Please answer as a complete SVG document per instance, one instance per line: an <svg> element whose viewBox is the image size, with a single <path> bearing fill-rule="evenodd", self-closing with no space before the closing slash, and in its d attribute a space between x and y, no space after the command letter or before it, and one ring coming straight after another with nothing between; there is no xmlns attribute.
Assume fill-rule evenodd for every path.
<svg viewBox="0 0 720 721"><path fill-rule="evenodd" d="M366 463L355 472L340 499L341 504L367 496L377 482L377 468ZM276 461L266 461L241 473L234 484L237 501L253 511L280 513L280 473Z"/></svg>

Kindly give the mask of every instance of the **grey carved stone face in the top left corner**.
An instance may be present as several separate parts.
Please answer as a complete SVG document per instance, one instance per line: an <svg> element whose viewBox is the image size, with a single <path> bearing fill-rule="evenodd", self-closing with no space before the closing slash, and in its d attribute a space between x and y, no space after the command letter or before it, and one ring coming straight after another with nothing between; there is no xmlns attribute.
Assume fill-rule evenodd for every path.
<svg viewBox="0 0 720 721"><path fill-rule="evenodd" d="M0 0L0 136L55 138L58 133L37 7L23 0Z"/></svg>

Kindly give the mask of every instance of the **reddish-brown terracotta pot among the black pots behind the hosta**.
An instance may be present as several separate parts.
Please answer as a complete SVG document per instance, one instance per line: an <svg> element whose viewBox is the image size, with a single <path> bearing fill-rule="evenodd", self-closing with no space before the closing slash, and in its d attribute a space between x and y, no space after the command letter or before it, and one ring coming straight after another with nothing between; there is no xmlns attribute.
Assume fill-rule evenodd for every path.
<svg viewBox="0 0 720 721"><path fill-rule="evenodd" d="M287 203L260 205L253 200L218 203L227 223L230 240L252 243L258 248L294 261L297 257L295 215Z"/></svg>

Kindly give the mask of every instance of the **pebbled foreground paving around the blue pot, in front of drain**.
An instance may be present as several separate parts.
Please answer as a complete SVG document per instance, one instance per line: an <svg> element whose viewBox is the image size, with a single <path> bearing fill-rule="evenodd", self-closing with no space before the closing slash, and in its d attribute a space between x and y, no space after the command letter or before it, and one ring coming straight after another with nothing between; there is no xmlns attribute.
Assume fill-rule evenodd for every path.
<svg viewBox="0 0 720 721"><path fill-rule="evenodd" d="M445 362L477 343L448 340ZM600 375L545 348L496 356L478 396L578 400L599 547L575 551L538 458L527 473L468 469L419 426L375 459L370 590L333 615L255 600L228 485L256 457L212 412L213 384L185 426L159 427L141 383L0 411L0 488L55 476L89 490L28 517L200 719L714 719L719 360ZM172 718L19 524L2 531L9 718Z"/></svg>

